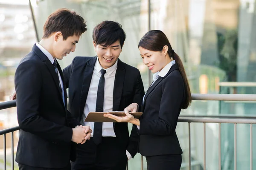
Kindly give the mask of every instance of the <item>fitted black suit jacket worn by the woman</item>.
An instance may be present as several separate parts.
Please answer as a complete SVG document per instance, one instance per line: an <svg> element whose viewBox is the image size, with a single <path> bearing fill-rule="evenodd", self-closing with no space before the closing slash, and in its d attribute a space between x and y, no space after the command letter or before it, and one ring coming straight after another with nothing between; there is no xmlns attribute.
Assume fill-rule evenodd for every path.
<svg viewBox="0 0 256 170"><path fill-rule="evenodd" d="M145 94L139 130L143 156L182 154L175 128L184 100L184 82L174 64Z"/></svg>

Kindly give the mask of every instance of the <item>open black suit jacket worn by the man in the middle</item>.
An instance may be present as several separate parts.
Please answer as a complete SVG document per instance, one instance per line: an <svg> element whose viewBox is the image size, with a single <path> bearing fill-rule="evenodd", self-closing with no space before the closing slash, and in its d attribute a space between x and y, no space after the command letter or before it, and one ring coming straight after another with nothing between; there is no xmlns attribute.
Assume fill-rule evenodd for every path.
<svg viewBox="0 0 256 170"><path fill-rule="evenodd" d="M97 57L75 57L63 70L66 87L69 88L69 111L79 121L84 111L96 59ZM123 111L131 103L141 103L143 99L144 88L140 71L120 59L113 88L113 111ZM130 139L127 123L113 123L113 127L116 138L134 157L138 145L136 127L133 126Z"/></svg>

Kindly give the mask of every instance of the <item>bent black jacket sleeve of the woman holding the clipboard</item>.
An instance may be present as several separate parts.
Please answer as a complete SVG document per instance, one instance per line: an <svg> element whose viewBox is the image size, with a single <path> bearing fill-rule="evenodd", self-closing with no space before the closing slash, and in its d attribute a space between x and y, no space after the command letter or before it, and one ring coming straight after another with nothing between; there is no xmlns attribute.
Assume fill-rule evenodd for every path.
<svg viewBox="0 0 256 170"><path fill-rule="evenodd" d="M181 77L172 77L163 82L159 118L140 119L140 135L170 135L175 131L180 106L183 102L184 85Z"/></svg>

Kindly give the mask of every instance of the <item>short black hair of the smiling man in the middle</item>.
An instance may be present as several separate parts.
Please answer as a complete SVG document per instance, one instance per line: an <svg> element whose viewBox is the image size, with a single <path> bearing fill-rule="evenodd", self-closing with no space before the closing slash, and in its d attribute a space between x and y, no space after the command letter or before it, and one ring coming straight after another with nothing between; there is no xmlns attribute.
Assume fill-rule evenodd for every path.
<svg viewBox="0 0 256 170"><path fill-rule="evenodd" d="M125 42L125 31L121 24L114 21L103 21L93 29L93 41L96 45L108 46L120 41L121 48Z"/></svg>

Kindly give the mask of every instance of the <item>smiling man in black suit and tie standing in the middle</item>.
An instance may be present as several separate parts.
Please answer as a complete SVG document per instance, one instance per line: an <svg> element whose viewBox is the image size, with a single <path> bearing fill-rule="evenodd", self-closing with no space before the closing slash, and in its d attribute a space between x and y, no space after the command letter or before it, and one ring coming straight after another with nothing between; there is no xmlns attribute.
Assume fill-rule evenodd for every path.
<svg viewBox="0 0 256 170"><path fill-rule="evenodd" d="M72 170L125 170L137 153L136 128L129 137L127 123L84 122L89 112L123 111L144 95L140 71L118 59L125 41L119 23L103 21L93 30L96 57L75 57L64 68L69 111L93 129L91 140L77 146Z"/></svg>

